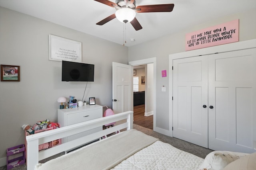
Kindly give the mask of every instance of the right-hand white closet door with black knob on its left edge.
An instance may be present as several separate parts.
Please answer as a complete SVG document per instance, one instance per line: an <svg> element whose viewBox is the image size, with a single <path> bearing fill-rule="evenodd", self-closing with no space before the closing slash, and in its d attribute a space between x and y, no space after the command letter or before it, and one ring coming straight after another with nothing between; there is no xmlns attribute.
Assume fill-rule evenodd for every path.
<svg viewBox="0 0 256 170"><path fill-rule="evenodd" d="M209 55L208 60L209 149L255 152L256 49Z"/></svg>

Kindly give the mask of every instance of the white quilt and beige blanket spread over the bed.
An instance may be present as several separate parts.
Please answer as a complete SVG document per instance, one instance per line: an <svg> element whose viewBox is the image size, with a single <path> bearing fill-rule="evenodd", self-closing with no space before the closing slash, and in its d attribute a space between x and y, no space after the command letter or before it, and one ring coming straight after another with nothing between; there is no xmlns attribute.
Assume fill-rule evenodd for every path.
<svg viewBox="0 0 256 170"><path fill-rule="evenodd" d="M124 135L126 133L128 135ZM108 149L106 144L110 145L110 143L106 143L106 141L111 141L110 143L113 144L110 146L112 151ZM103 144L99 145L100 143ZM102 148L100 149L100 147ZM138 150L137 147L140 149ZM92 151L88 150L89 148L92 148ZM127 154L130 157L126 156ZM70 152L45 164L40 164L37 168L39 170L71 170L74 167L82 170L110 168L114 170L197 170L203 160L198 156L176 149L167 143L133 129L96 142L73 153Z"/></svg>

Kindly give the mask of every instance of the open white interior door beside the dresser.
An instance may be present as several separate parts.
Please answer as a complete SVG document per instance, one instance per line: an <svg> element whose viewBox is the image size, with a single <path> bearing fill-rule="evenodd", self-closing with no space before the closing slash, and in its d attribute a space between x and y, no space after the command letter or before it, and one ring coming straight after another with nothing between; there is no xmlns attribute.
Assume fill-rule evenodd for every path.
<svg viewBox="0 0 256 170"><path fill-rule="evenodd" d="M133 111L132 75L131 65L112 63L112 107L114 113Z"/></svg>

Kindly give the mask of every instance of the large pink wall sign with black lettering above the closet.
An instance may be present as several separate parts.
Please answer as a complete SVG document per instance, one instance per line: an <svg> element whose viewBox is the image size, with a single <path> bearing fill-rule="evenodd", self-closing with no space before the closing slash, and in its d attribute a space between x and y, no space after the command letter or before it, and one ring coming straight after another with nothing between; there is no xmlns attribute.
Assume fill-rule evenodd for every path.
<svg viewBox="0 0 256 170"><path fill-rule="evenodd" d="M239 41L239 20L186 34L186 51Z"/></svg>

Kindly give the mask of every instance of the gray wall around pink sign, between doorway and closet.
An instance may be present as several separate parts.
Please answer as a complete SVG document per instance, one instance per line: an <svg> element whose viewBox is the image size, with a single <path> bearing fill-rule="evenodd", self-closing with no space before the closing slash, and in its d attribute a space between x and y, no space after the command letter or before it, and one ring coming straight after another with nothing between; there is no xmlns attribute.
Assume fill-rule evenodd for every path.
<svg viewBox="0 0 256 170"><path fill-rule="evenodd" d="M156 127L170 130L169 127L169 55L185 51L186 33L198 31L214 25L239 19L239 41L256 39L256 8L246 13L237 13L216 20L195 25L178 33L160 37L147 43L129 47L129 61L136 61L156 57ZM161 70L167 71L167 77L161 76ZM161 87L166 87L166 92L161 92ZM171 97L171 96L170 96Z"/></svg>

